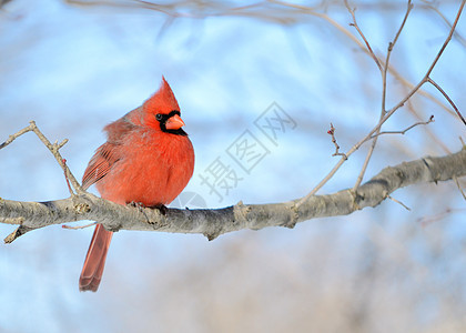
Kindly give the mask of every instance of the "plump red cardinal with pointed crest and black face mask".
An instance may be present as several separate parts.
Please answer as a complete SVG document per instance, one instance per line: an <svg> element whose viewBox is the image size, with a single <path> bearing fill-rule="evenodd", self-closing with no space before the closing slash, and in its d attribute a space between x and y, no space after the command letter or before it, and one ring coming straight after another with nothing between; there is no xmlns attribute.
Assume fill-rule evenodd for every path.
<svg viewBox="0 0 466 333"><path fill-rule="evenodd" d="M108 124L82 178L83 189L97 185L103 199L144 206L163 206L184 189L194 170L194 150L180 118L180 107L162 84L142 107ZM97 291L112 232L98 224L79 279L80 291Z"/></svg>

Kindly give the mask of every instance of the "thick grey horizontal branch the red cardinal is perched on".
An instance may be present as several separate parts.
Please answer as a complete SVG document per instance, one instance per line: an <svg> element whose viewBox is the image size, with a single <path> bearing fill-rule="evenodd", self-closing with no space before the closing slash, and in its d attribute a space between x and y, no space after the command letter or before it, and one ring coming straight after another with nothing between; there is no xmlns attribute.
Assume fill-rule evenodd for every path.
<svg viewBox="0 0 466 333"><path fill-rule="evenodd" d="M347 215L366 206L376 206L397 189L422 182L447 181L466 175L466 149L442 158L424 158L388 167L356 191L343 190L283 203L243 204L215 210L159 210L121 205L91 193L48 202L0 200L0 223L20 226L6 242L27 231L53 224L92 220L111 231L141 230L199 233L209 240L243 229L293 228L315 218Z"/></svg>

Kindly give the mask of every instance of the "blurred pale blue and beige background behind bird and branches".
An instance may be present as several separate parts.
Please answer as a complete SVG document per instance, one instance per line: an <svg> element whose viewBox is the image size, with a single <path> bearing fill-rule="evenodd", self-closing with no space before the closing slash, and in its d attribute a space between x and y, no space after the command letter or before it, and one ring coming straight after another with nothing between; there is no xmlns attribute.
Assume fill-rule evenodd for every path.
<svg viewBox="0 0 466 333"><path fill-rule="evenodd" d="M460 1L413 1L392 54L387 107L416 84ZM162 74L194 144L194 175L178 206L281 202L308 193L377 123L382 80L356 43L343 1L1 1L0 142L36 120L81 179L101 129L139 107ZM406 1L351 1L383 56ZM466 113L466 13L432 77ZM355 38L351 36L355 36ZM403 78L405 81L401 81ZM456 152L465 128L432 87L384 125L365 180L387 165ZM295 127L275 141L256 127L280 107ZM277 110L277 109L273 109ZM269 153L247 172L229 148L250 131ZM368 144L320 191L356 181ZM0 196L69 195L59 165L31 133L0 151ZM237 175L203 183L215 161ZM230 179L231 180L231 179ZM463 186L466 183L462 182ZM92 189L92 191L94 191ZM78 278L92 228L50 226L0 245L1 332L460 332L466 330L465 201L454 182L419 184L375 209L202 235L118 232L98 293ZM83 224L85 223L82 222ZM0 225L6 236L13 230Z"/></svg>

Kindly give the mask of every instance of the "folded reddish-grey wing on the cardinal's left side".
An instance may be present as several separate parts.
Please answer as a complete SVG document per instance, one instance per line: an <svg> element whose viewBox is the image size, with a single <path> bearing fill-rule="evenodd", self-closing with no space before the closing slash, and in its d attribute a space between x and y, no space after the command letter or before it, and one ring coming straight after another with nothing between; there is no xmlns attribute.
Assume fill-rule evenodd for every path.
<svg viewBox="0 0 466 333"><path fill-rule="evenodd" d="M104 178L113 164L120 160L115 153L115 147L116 144L107 142L95 151L82 176L82 188L84 190Z"/></svg>

